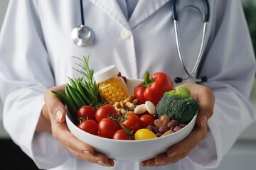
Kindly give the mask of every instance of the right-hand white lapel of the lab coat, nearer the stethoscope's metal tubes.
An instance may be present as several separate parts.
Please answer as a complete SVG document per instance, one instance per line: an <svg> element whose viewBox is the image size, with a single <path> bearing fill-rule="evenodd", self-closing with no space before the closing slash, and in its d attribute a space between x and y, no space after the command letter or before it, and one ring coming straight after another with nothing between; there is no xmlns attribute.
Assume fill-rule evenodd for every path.
<svg viewBox="0 0 256 170"><path fill-rule="evenodd" d="M134 28L139 23L142 23L142 21L151 16L152 13L156 12L168 1L170 0L139 0L137 6L134 8L131 18L129 19L130 28Z"/></svg>

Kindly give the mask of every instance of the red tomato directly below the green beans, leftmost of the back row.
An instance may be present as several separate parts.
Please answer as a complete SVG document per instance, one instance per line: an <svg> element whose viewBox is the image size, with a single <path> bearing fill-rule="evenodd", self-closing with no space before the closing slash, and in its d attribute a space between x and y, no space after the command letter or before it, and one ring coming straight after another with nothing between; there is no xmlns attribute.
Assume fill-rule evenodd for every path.
<svg viewBox="0 0 256 170"><path fill-rule="evenodd" d="M95 108L93 108L92 106L86 105L78 109L77 116L78 118L85 118L86 120L88 119L96 120L95 113L96 113Z"/></svg>

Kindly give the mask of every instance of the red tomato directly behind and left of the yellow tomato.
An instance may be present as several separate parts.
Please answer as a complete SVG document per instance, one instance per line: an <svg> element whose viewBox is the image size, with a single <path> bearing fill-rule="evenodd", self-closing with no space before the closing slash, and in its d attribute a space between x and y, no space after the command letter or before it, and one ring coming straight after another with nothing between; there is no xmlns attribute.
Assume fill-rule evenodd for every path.
<svg viewBox="0 0 256 170"><path fill-rule="evenodd" d="M142 128L142 122L135 113L128 113L127 118L122 121L122 125L133 133Z"/></svg>

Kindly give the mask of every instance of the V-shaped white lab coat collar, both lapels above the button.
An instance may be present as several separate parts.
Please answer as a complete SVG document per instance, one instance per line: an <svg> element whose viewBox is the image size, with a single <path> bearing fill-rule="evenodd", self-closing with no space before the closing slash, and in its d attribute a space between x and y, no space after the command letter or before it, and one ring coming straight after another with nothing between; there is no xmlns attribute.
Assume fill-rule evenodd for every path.
<svg viewBox="0 0 256 170"><path fill-rule="evenodd" d="M125 18L122 13L119 4L115 0L102 1L102 0L90 0L92 4L99 7L102 11L107 13L114 21L116 21L120 26L130 30L142 23L146 18L151 16L152 13L157 11L161 6L164 6L167 1L170 0L139 0L137 6L134 8L129 21ZM171 7L170 7L171 8Z"/></svg>

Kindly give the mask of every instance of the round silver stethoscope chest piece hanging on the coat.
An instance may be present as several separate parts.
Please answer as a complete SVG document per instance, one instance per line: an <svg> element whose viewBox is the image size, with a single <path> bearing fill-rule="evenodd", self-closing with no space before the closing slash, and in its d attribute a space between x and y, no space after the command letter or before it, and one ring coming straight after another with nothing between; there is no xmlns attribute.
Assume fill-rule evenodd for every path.
<svg viewBox="0 0 256 170"><path fill-rule="evenodd" d="M79 47L85 47L92 45L95 40L95 34L90 27L81 25L73 28L71 32L71 38L75 45L78 45Z"/></svg>

